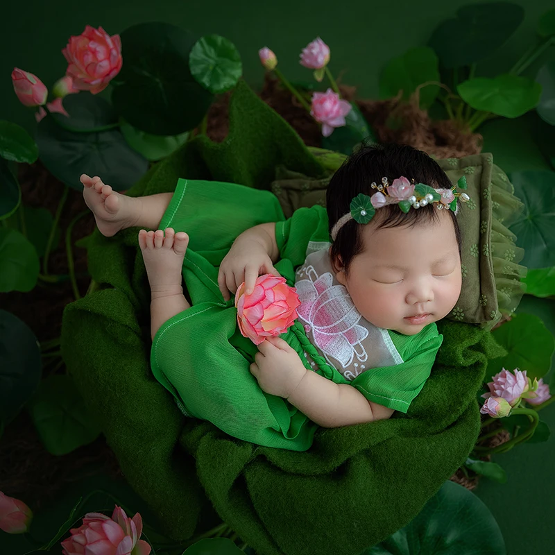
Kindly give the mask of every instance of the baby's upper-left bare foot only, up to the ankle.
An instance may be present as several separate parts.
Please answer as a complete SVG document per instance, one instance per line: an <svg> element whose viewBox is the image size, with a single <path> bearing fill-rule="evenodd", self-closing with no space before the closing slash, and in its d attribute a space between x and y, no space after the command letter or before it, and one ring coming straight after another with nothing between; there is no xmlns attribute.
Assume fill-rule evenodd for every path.
<svg viewBox="0 0 555 555"><path fill-rule="evenodd" d="M85 203L94 213L96 226L105 237L126 228L132 228L141 214L141 199L125 196L104 185L101 178L80 177Z"/></svg>

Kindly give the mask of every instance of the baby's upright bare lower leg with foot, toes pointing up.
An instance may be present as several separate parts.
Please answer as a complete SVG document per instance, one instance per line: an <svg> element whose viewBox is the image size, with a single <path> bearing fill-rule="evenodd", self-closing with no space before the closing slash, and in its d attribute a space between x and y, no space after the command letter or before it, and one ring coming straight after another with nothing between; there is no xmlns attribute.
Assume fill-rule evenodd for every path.
<svg viewBox="0 0 555 555"><path fill-rule="evenodd" d="M188 243L186 233L175 233L172 228L166 228L165 237L162 230L139 231L139 246L151 284L152 339L164 322L191 307L181 287L181 270Z"/></svg>

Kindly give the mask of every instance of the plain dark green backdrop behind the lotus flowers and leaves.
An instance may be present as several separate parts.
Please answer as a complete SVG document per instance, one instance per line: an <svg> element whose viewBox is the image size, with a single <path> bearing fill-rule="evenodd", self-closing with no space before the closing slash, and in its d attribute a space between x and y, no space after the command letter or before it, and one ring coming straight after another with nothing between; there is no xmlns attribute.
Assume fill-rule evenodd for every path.
<svg viewBox="0 0 555 555"><path fill-rule="evenodd" d="M409 0L350 3L330 0L11 1L8 7L2 8L0 17L0 119L9 119L33 130L33 112L17 101L10 73L13 67L31 71L51 87L67 67L62 48L70 35L83 32L85 24L103 26L110 35L148 21L170 22L200 34L219 33L239 49L244 76L253 87L262 83L263 71L257 55L262 46L275 51L280 69L291 80L310 80L310 71L298 64L298 55L302 47L320 35L332 50L333 74L343 83L357 85L362 98L376 98L377 78L384 64L413 46L426 44L436 25L467 3L461 0L418 3ZM524 23L502 49L479 63L477 76L495 76L508 71L536 40L540 14L555 7L553 1L547 0L516 3L525 8ZM495 25L495 21L491 24ZM524 75L535 76L547 59L555 59L553 47ZM492 152L494 161L506 172L547 169L531 139L532 123L533 114L517 120L491 121L481 128L484 152ZM539 303L546 316L551 316L549 326L555 332L554 303L527 300L521 310L525 311L532 302ZM541 418L555 430L553 405L541 413ZM477 495L499 522L509 555L554 552L554 459L553 437L547 443L517 447L496 459L506 468L509 482L499 485L483 479L477 489ZM24 500L33 506L33 493Z"/></svg>

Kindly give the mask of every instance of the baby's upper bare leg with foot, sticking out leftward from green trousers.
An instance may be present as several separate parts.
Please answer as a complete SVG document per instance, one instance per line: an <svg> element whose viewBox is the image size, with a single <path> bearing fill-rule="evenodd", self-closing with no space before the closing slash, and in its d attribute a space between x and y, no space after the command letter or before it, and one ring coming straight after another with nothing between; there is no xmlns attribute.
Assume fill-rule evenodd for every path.
<svg viewBox="0 0 555 555"><path fill-rule="evenodd" d="M101 178L83 173L85 203L94 212L94 219L99 231L105 237L135 225L142 228L157 229L164 216L171 193L159 193L150 196L133 197L113 191L110 185L104 185Z"/></svg>

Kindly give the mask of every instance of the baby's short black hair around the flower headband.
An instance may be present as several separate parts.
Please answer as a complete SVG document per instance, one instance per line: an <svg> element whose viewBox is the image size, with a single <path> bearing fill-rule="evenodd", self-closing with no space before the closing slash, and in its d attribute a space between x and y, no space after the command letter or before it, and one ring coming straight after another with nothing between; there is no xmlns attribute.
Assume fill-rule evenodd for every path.
<svg viewBox="0 0 555 555"><path fill-rule="evenodd" d="M450 189L452 183L445 172L425 152L408 145L399 144L368 144L343 162L336 171L326 191L327 217L330 222L330 233L341 216L350 212L350 203L355 196L364 193L372 196L372 182L381 183L388 178L389 183L404 176L415 183L425 183L434 189ZM386 205L376 210L373 221L378 228L396 228L401 225L413 227L419 222L438 219L436 203L411 208L407 214L398 205ZM461 230L452 210L449 212L461 253ZM348 221L339 230L332 244L331 258L334 266L341 259L341 266L348 273L352 259L359 255L364 244L361 235L362 226L354 220Z"/></svg>

